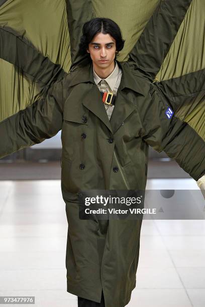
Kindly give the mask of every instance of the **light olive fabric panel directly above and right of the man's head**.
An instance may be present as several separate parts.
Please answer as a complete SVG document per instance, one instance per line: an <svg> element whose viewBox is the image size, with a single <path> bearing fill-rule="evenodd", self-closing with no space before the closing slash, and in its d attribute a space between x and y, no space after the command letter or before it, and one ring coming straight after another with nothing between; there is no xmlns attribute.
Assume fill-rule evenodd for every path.
<svg viewBox="0 0 205 307"><path fill-rule="evenodd" d="M119 61L128 59L128 53L139 39L159 0L92 0L96 17L113 19L121 28L125 47Z"/></svg>

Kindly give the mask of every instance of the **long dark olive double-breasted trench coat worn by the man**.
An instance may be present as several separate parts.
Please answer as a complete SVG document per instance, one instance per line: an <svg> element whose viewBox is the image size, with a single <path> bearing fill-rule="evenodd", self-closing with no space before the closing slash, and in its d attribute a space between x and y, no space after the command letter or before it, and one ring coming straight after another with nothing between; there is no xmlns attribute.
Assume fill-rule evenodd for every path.
<svg viewBox="0 0 205 307"><path fill-rule="evenodd" d="M80 220L79 191L144 190L148 145L164 150L195 180L205 165L203 140L175 115L168 119L165 112L173 106L156 84L133 70L132 62L118 64L123 75L110 121L90 63L47 86L42 99L1 123L1 157L62 128L67 291L99 302L103 289L106 307L124 307L130 300L142 221Z"/></svg>

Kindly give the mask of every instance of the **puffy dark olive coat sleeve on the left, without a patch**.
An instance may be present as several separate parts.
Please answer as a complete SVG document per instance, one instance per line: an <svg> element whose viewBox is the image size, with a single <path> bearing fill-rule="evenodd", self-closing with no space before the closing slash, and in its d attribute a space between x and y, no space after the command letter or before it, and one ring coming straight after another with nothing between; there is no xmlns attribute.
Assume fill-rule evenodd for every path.
<svg viewBox="0 0 205 307"><path fill-rule="evenodd" d="M63 79L44 88L41 98L0 122L0 158L55 135L63 121Z"/></svg>

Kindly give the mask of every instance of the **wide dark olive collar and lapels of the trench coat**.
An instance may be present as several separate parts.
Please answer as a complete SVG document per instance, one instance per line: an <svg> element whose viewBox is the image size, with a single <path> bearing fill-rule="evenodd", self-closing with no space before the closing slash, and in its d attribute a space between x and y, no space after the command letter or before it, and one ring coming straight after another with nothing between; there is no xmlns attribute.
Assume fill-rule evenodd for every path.
<svg viewBox="0 0 205 307"><path fill-rule="evenodd" d="M115 107L111 120L109 120L106 108L103 103L97 103L101 101L100 91L94 82L93 78L93 68L92 63L78 68L78 73L73 77L69 86L74 86L80 83L88 83L82 104L88 108L92 113L94 113L104 124L108 127L111 133L115 133L120 126L123 124L124 120L135 110L134 104L127 98L125 89L131 89L140 95L144 96L143 86L141 82L137 82L134 78L131 69L129 69L128 63L118 62L119 67L122 69L121 83L117 92Z"/></svg>

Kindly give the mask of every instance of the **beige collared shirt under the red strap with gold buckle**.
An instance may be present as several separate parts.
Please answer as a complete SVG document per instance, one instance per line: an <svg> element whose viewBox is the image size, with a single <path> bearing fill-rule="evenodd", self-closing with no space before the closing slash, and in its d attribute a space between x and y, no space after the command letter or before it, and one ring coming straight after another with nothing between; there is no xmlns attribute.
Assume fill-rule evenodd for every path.
<svg viewBox="0 0 205 307"><path fill-rule="evenodd" d="M96 72L93 69L93 78L94 82L97 85L98 89L100 92L110 92L113 93L114 95L117 94L120 82L121 82L121 77L122 77L122 69L118 66L118 63L116 63L114 71L106 78L106 79L101 79ZM102 103L102 102L101 102ZM104 104L108 118L109 120L111 119L111 115L114 109L114 105L110 106L107 104Z"/></svg>

